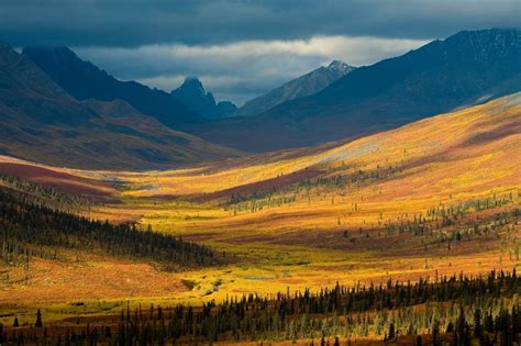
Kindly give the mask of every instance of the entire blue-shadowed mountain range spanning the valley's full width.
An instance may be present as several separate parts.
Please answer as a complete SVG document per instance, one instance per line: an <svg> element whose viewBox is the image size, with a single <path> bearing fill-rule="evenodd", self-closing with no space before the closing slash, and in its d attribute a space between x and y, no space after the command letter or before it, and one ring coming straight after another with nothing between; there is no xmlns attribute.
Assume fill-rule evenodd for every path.
<svg viewBox="0 0 521 346"><path fill-rule="evenodd" d="M151 169L348 141L520 91L520 62L519 30L465 31L372 66L333 62L236 110L197 78L168 93L120 81L65 47L18 54L1 44L0 149Z"/></svg>

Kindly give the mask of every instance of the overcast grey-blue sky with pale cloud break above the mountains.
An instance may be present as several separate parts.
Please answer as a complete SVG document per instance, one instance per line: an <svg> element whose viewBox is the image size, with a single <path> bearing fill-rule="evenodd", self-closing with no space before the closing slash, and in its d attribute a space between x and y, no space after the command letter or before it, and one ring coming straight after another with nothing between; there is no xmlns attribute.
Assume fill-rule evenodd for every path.
<svg viewBox="0 0 521 346"><path fill-rule="evenodd" d="M66 45L121 79L198 76L239 104L333 59L359 66L461 30L519 27L521 0L1 0L0 40Z"/></svg>

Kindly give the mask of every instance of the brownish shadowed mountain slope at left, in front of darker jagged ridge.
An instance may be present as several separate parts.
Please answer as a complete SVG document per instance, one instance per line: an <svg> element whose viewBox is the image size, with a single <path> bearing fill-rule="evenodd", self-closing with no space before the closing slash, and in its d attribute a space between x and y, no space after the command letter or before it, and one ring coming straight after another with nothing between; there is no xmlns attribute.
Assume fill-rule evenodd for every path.
<svg viewBox="0 0 521 346"><path fill-rule="evenodd" d="M78 168L152 169L239 152L176 132L126 102L79 102L0 43L0 153Z"/></svg>

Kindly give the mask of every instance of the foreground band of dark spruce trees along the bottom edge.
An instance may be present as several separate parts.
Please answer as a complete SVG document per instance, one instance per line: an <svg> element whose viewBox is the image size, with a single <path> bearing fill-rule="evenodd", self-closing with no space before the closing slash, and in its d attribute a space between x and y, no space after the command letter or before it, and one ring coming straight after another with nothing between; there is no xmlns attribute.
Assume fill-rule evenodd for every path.
<svg viewBox="0 0 521 346"><path fill-rule="evenodd" d="M0 343L79 345L271 343L320 339L340 345L370 337L393 342L413 336L417 345L513 345L520 341L521 313L516 297L521 278L490 271L317 292L247 294L192 306L126 308L120 315L78 326L2 327ZM35 323L36 324L36 323ZM311 343L311 342L310 342Z"/></svg>

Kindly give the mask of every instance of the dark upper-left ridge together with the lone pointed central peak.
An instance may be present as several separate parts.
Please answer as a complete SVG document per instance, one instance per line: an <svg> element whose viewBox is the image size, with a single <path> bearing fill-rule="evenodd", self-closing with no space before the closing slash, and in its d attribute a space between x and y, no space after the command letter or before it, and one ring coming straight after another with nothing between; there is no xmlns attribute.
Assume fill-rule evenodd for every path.
<svg viewBox="0 0 521 346"><path fill-rule="evenodd" d="M136 81L119 80L92 63L80 59L67 47L25 47L22 54L77 100L121 99L173 129L180 124L225 118L236 110L229 101L215 104L213 96L207 93L195 77L187 78L169 94Z"/></svg>

